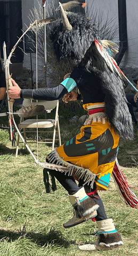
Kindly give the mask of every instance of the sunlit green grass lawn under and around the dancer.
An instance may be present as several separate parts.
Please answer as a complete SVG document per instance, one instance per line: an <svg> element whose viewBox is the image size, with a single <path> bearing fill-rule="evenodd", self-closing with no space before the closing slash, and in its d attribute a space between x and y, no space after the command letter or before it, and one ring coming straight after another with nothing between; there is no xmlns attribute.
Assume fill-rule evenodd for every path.
<svg viewBox="0 0 138 256"><path fill-rule="evenodd" d="M73 107L67 108L61 105L60 113L61 138L64 143L79 132L81 125L69 123L69 119L76 115ZM81 116L85 113L78 109L77 114ZM1 117L1 122L5 125L6 117ZM133 141L120 140L118 153L123 174L128 184L135 188L138 188L137 140L137 131ZM37 155L34 144L31 149ZM45 156L50 151L51 147L39 145L40 161L44 162ZM46 194L43 168L34 165L34 159L23 145L20 145L19 155L15 158L15 148L11 146L9 133L6 130L0 130L0 154L1 256L136 256L138 254L137 209L126 206L112 178L109 189L99 194L108 218L113 218L116 228L121 233L124 245L118 250L109 252L83 252L78 250L77 245L96 241L94 236L97 230L96 223L87 221L76 227L63 228L62 223L72 217L67 191L56 181L58 189L54 193ZM138 196L137 189L132 190Z"/></svg>

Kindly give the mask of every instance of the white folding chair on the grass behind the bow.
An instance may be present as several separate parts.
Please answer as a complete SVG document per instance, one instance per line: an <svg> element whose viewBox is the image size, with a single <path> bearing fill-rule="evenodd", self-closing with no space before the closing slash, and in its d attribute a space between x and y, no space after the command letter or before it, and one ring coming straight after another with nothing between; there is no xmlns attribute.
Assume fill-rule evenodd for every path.
<svg viewBox="0 0 138 256"><path fill-rule="evenodd" d="M26 119L24 120L25 116L27 118L27 114L24 115L23 111L27 110L28 114L30 115L30 111L29 109L34 108L34 107L40 107L40 106L44 106L44 109L46 111L46 113L50 113L51 110L53 110L56 107L55 110L55 118L54 119ZM43 109L43 110L44 110ZM60 126L59 126L59 115L58 115L58 110L59 110L59 100L53 100L53 101L46 101L46 100L29 100L29 99L24 99L22 102L22 109L20 109L19 111L17 111L18 115L20 116L20 123L19 123L19 131L21 129L23 129L23 134L24 134L24 139L27 143L36 143L33 141L27 141L27 137L26 137L26 132L35 132L35 131L29 131L28 129L38 129L38 132L43 132L43 133L53 133L53 139L39 139L38 143L52 143L52 150L54 149L54 144L55 144L55 140L59 140L59 146L61 146L61 136L60 136ZM23 113L22 113L23 112ZM33 113L33 116L35 114ZM53 131L48 131L48 130L39 130L40 128L42 129L48 129L53 127ZM58 139L55 139L55 135L56 133L58 133ZM15 157L18 156L18 149L19 149L19 143L23 143L20 142L20 135L18 134L18 140L17 140L17 148L16 148L16 154ZM35 140L36 139L31 139L31 140ZM42 141L43 140L43 141Z"/></svg>

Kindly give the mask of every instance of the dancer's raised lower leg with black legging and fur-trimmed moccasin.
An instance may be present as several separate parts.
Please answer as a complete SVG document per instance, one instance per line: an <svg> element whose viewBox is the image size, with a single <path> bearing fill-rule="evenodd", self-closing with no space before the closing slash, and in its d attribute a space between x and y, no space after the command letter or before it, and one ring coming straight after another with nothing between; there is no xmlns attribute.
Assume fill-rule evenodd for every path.
<svg viewBox="0 0 138 256"><path fill-rule="evenodd" d="M74 227L86 220L96 217L96 209L98 209L99 205L93 198L87 196L84 187L79 188L75 179L68 176L68 174L64 175L64 173L55 170L51 170L50 172L68 191L69 201L75 209L72 219L63 224L64 228Z"/></svg>

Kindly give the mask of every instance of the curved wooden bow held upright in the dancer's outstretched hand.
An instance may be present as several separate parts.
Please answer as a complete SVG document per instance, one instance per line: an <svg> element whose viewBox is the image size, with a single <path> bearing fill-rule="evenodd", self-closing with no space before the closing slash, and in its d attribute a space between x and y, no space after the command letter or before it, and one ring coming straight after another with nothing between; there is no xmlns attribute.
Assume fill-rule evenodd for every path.
<svg viewBox="0 0 138 256"><path fill-rule="evenodd" d="M38 161L38 159L36 159L35 155L33 154L33 152L31 151L31 149L29 148L29 146L27 145L25 139L22 137L19 129L18 129L18 126L17 124L15 123L15 119L14 119L14 116L13 116L13 103L14 103L14 100L10 99L9 97L9 93L8 93L8 90L9 90L9 86L13 86L12 85L12 82L11 82L11 76L10 76L10 70L9 70L9 65L11 63L10 59L12 57L12 54L13 52L15 51L16 47L18 46L18 44L20 43L22 37L27 33L28 30L30 30L31 28L35 28L35 27L38 27L38 28L41 28L42 26L48 24L48 23L51 23L53 21L56 21L56 19L54 17L50 17L50 18L46 18L44 20L35 20L33 23L30 24L30 26L27 28L27 30L22 34L22 36L18 39L17 43L15 43L15 45L13 46L10 54L9 54L9 57L6 58L6 44L4 42L3 44L3 52L4 52L4 68L5 68L5 78L6 78L6 89L7 89L7 101L8 101L8 107L9 107L9 123L10 123L10 137L11 137L11 140L12 140L12 145L15 146L15 143L14 143L14 140L15 140L15 135L13 135L13 124L17 130L17 132L19 133L20 135L20 138L22 139L23 143L25 144L26 148L28 149L29 153L31 154L31 156L33 156L34 160L35 160L35 164L38 164L39 166L42 166L42 167L46 167L48 169L54 169L56 171L61 171L61 172L68 172L69 169L67 167L64 167L64 166L59 166L59 165L56 165L56 164L51 164L51 163L40 163Z"/></svg>

